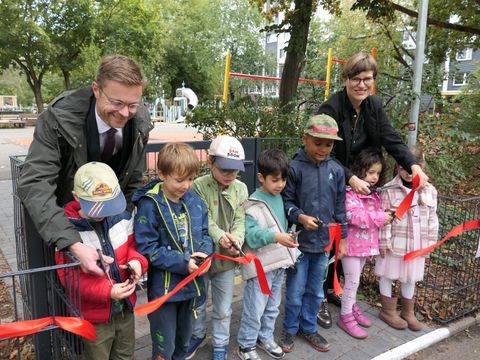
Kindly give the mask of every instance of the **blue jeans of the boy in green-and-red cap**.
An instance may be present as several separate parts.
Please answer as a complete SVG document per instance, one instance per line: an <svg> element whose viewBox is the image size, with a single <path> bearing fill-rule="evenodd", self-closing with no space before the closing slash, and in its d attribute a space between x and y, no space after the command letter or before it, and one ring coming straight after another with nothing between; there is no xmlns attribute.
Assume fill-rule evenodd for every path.
<svg viewBox="0 0 480 360"><path fill-rule="evenodd" d="M287 333L296 334L299 329L309 334L317 331L317 313L324 297L327 261L326 253L304 253L295 264L296 271L287 269L283 320L283 328Z"/></svg>

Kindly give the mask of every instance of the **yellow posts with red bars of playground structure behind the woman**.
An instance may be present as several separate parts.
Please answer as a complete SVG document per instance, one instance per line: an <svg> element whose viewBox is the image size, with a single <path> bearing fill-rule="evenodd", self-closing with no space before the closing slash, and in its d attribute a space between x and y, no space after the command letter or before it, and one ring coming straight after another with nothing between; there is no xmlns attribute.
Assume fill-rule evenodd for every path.
<svg viewBox="0 0 480 360"><path fill-rule="evenodd" d="M372 56L374 58L377 57L377 49L372 48ZM230 72L230 63L231 63L231 54L228 52L225 60L225 74L223 78L223 103L226 104L228 102L228 82L230 77L237 77L237 78L244 78L244 79L254 79L254 80L262 80L262 81L281 81L281 77L272 77L272 76L263 76L263 75L251 75L251 74L241 74ZM316 85L325 85L325 97L324 99L327 100L330 96L330 86L331 86L331 70L333 63L345 64L345 60L336 59L333 57L333 49L328 49L327 55L327 74L325 80L316 80L316 79L298 79L300 83L313 83ZM375 95L376 88L375 82L372 88L372 95Z"/></svg>

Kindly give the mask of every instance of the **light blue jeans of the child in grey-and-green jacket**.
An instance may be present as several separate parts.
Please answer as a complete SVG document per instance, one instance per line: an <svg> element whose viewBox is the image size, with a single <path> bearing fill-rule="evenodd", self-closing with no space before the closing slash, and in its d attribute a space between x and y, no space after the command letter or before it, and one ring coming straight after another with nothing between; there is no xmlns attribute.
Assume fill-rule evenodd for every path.
<svg viewBox="0 0 480 360"><path fill-rule="evenodd" d="M258 278L247 281L243 290L243 314L238 330L237 342L242 348L255 346L257 338L263 342L273 340L275 320L280 312L284 269L265 274L272 295L264 295Z"/></svg>

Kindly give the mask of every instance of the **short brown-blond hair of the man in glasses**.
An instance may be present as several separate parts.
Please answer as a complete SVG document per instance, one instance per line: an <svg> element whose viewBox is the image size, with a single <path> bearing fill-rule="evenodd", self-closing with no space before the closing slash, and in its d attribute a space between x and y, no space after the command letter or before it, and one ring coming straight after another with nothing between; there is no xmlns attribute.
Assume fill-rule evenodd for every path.
<svg viewBox="0 0 480 360"><path fill-rule="evenodd" d="M102 58L96 82L100 88L106 81L115 81L126 86L147 86L142 68L133 59L124 55L107 55Z"/></svg>

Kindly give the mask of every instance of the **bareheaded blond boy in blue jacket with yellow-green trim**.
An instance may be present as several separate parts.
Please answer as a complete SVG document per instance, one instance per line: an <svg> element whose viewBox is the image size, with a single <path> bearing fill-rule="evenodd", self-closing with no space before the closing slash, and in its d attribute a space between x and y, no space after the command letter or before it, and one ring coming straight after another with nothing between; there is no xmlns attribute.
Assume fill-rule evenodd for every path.
<svg viewBox="0 0 480 360"><path fill-rule="evenodd" d="M158 153L157 173L161 181L147 184L133 197L137 205L137 250L149 261L149 301L173 290L198 269L200 258L213 252L213 242L208 235L207 207L190 189L199 165L189 145L167 144ZM193 315L204 300L201 276L148 315L152 359L185 359Z"/></svg>

